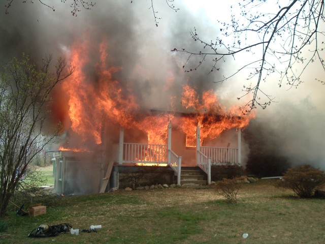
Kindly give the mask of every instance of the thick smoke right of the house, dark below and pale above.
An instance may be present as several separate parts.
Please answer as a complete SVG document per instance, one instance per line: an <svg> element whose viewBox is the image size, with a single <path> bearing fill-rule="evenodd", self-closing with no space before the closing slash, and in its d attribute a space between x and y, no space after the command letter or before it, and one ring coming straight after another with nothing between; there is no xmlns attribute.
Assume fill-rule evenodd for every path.
<svg viewBox="0 0 325 244"><path fill-rule="evenodd" d="M314 86L322 88L316 82ZM258 111L245 134L251 142L251 160L259 161L252 164L263 165L258 173L279 174L289 166L304 164L325 169L323 99L316 94L313 87L302 84L279 94L278 103Z"/></svg>

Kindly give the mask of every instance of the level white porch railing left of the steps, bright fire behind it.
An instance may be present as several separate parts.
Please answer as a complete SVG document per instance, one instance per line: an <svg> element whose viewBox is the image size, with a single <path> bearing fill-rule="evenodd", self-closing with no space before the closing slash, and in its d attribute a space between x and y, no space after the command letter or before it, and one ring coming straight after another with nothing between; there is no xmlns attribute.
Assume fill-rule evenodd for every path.
<svg viewBox="0 0 325 244"><path fill-rule="evenodd" d="M123 163L168 163L168 145L123 143Z"/></svg>

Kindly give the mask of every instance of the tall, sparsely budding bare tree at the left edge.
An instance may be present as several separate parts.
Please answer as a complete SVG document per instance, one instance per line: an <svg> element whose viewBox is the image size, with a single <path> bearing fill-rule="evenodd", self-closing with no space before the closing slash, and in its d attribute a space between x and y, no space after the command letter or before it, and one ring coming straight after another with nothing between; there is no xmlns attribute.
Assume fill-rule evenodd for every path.
<svg viewBox="0 0 325 244"><path fill-rule="evenodd" d="M48 56L37 68L23 55L13 58L0 74L0 217L30 162L61 133L60 124L46 123L50 94L73 71L63 59L58 59L54 69Z"/></svg>

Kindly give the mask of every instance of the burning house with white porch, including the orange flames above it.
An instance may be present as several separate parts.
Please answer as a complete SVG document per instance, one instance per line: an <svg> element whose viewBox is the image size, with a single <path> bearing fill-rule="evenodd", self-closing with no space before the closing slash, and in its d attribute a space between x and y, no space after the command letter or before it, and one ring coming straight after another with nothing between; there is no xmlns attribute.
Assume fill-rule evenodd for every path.
<svg viewBox="0 0 325 244"><path fill-rule="evenodd" d="M140 105L132 83L115 78L121 68L107 63L107 48L100 45L92 73L85 71L87 46L71 51L78 67L61 87L67 93L63 113L69 114L69 133L54 154L56 193L104 192L118 187L120 175L135 165L166 166L157 172L178 185L185 184L184 167L195 167L209 184L211 164L241 163L241 129L250 117L223 108L212 89L199 94L190 84L171 93L168 110Z"/></svg>

